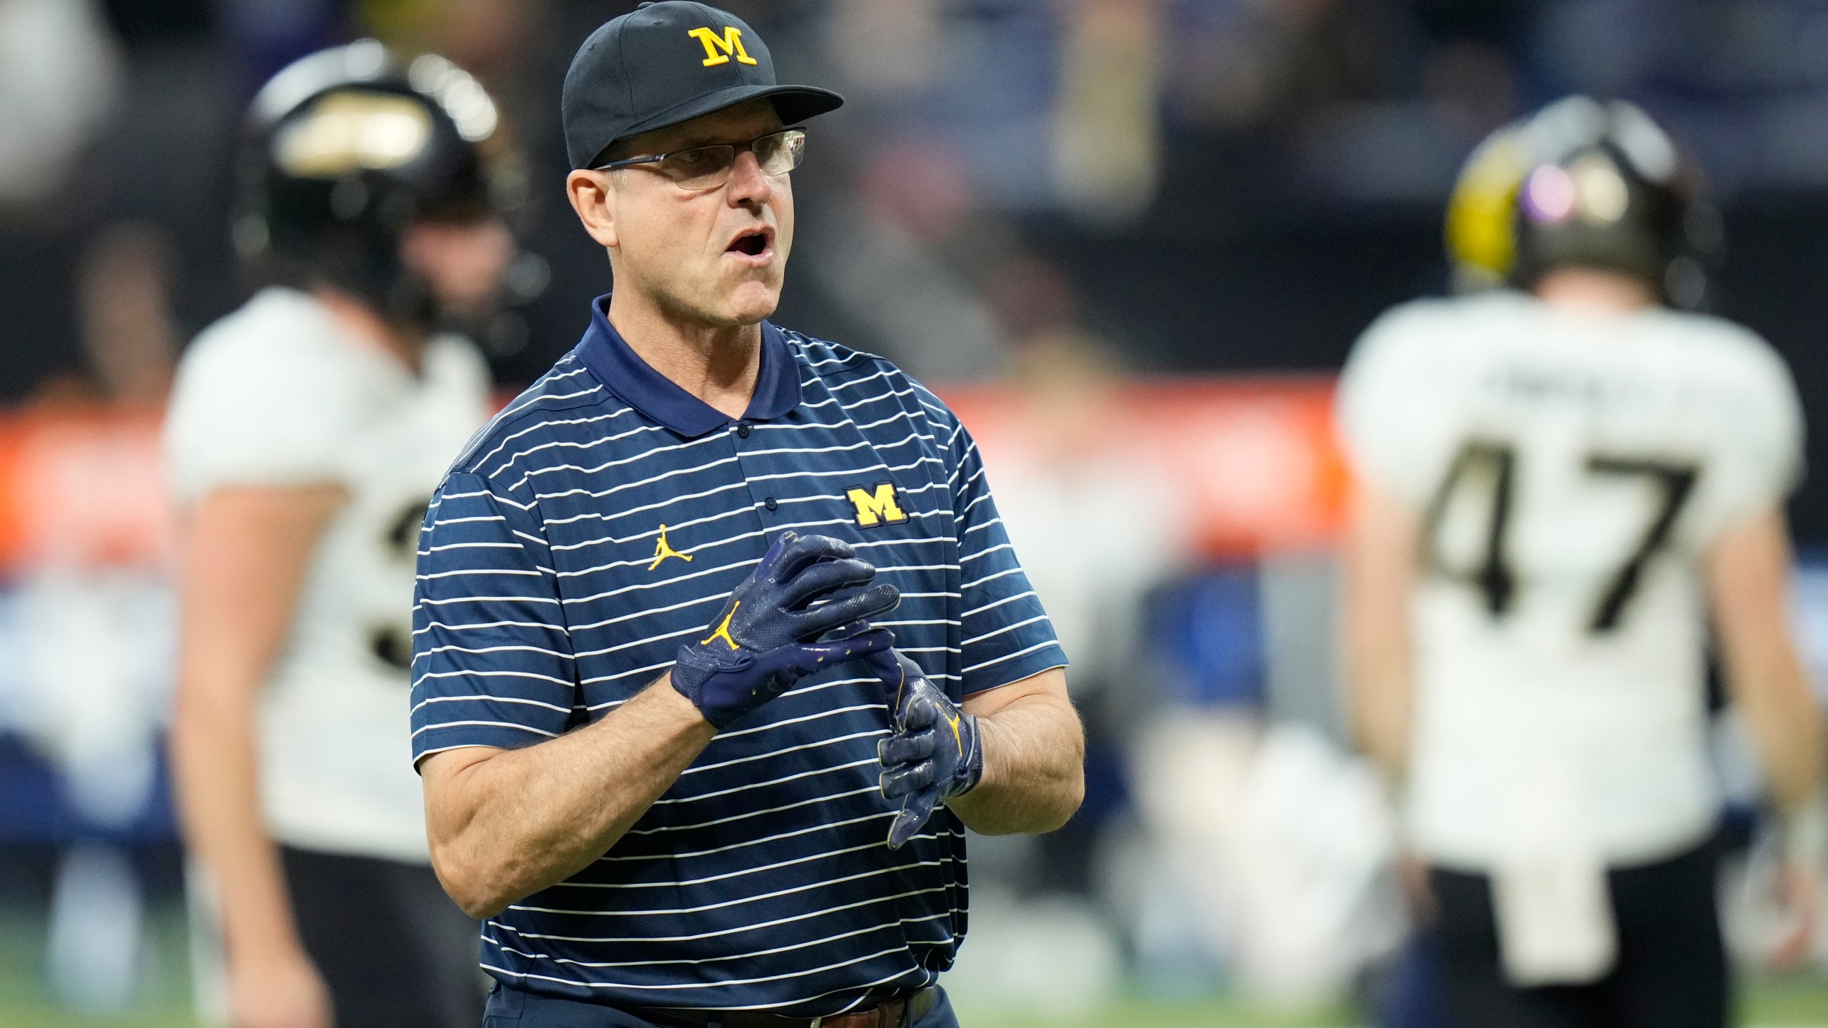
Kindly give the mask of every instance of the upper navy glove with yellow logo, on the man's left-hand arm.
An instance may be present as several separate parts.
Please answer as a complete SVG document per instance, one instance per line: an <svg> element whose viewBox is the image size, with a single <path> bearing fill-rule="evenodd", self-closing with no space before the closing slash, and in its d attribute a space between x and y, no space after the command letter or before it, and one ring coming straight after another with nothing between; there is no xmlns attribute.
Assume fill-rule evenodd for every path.
<svg viewBox="0 0 1828 1028"><path fill-rule="evenodd" d="M892 611L901 594L868 585L874 576L839 540L781 532L704 638L680 646L673 688L722 730L804 675L888 649L894 637L868 618ZM826 633L834 638L821 642Z"/></svg>

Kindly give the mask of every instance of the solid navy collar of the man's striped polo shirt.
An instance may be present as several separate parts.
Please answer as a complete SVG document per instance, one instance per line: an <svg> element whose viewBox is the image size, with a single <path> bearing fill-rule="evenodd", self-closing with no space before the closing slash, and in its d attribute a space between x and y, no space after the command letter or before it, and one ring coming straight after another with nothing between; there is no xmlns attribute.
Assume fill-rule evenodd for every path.
<svg viewBox="0 0 1828 1028"><path fill-rule="evenodd" d="M603 386L623 402L687 439L696 439L731 423L715 406L687 393L678 382L654 371L609 324L609 294L590 302L590 327L578 344L578 357ZM799 406L801 380L786 337L762 322L762 368L755 377L742 421L770 421Z"/></svg>

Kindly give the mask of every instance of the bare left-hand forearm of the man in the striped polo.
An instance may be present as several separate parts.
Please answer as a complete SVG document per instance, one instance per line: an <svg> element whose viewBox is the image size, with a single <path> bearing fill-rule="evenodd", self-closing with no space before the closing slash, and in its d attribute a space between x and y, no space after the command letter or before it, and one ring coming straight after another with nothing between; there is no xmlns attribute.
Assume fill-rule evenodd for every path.
<svg viewBox="0 0 1828 1028"><path fill-rule="evenodd" d="M473 916L570 878L616 845L715 734L662 677L589 728L457 768L435 803L428 781L439 878Z"/></svg>

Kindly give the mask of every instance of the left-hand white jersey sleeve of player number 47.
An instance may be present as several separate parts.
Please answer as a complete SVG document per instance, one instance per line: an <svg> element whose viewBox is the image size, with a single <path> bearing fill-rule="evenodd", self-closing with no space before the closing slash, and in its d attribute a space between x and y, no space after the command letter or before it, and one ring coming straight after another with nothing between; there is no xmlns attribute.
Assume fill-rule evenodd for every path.
<svg viewBox="0 0 1828 1028"><path fill-rule="evenodd" d="M1353 472L1409 503L1435 481L1440 404L1451 390L1429 362L1426 315L1398 307L1366 329L1340 375L1336 419Z"/></svg>

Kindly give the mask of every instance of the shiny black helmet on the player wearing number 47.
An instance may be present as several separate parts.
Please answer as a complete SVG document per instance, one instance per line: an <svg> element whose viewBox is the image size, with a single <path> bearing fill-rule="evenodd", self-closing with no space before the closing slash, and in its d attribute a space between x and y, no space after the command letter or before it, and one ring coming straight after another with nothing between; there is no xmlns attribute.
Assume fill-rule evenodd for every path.
<svg viewBox="0 0 1828 1028"><path fill-rule="evenodd" d="M1557 267L1642 278L1693 307L1718 218L1700 170L1634 104L1568 97L1488 137L1448 205L1455 285L1528 289Z"/></svg>

